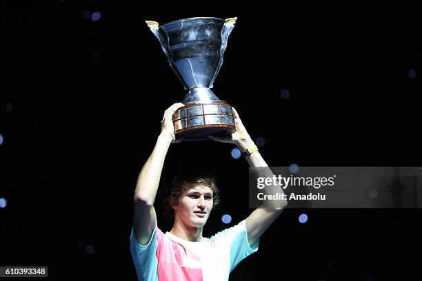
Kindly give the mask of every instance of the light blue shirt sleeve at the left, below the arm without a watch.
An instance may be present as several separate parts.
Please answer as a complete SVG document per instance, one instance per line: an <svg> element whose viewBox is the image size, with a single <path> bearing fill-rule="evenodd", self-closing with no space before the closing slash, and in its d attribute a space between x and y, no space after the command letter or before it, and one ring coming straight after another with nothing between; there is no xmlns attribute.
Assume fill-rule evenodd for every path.
<svg viewBox="0 0 422 281"><path fill-rule="evenodd" d="M132 253L138 280L157 280L158 278L157 248L159 247L159 236L163 236L163 232L158 227L155 227L148 244L141 245L138 243L134 229L132 228L132 233L130 234L130 253Z"/></svg>

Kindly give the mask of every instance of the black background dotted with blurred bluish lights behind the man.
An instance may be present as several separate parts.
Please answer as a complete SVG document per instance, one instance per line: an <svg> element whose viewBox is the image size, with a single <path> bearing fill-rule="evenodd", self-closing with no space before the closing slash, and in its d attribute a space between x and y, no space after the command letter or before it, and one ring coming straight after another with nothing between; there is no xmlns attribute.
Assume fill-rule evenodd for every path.
<svg viewBox="0 0 422 281"><path fill-rule="evenodd" d="M0 265L136 279L135 183L163 111L185 94L145 20L239 17L213 92L265 138L270 166L421 165L415 6L145 3L2 1ZM205 236L227 227L223 214L233 225L252 211L248 164L231 149L180 143L165 161L162 185L176 168L217 176ZM286 209L230 280L422 280L420 224L420 209Z"/></svg>

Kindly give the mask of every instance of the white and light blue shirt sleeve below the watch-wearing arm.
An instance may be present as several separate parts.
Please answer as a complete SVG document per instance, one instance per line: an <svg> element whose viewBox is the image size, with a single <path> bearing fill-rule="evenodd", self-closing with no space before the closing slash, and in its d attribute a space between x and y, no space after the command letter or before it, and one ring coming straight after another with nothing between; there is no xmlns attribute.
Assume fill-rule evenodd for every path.
<svg viewBox="0 0 422 281"><path fill-rule="evenodd" d="M237 267L241 260L258 251L259 240L252 244L252 247L249 245L245 223L246 220L242 220L238 225L224 229L210 238L210 240L228 247L230 251L230 272Z"/></svg>

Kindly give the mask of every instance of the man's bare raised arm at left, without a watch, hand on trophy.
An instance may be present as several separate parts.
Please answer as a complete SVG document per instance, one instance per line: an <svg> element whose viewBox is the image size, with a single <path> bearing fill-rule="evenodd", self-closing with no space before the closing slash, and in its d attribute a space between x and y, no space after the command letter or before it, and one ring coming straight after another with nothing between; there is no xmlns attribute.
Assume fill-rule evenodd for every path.
<svg viewBox="0 0 422 281"><path fill-rule="evenodd" d="M133 228L139 244L148 244L152 232L157 225L154 200L159 187L161 171L170 143L179 143L174 136L172 116L176 110L183 107L183 103L174 103L165 110L161 121L161 134L157 139L152 154L146 161L137 180L134 192Z"/></svg>

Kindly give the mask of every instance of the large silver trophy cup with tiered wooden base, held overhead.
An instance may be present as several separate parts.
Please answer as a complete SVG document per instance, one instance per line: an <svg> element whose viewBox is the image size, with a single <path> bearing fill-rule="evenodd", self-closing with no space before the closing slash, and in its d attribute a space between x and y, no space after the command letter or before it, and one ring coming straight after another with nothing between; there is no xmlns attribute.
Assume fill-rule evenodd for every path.
<svg viewBox="0 0 422 281"><path fill-rule="evenodd" d="M223 63L228 37L237 18L196 17L160 25L145 21L159 39L174 73L188 90L174 112L174 134L185 141L236 131L232 107L210 90Z"/></svg>

